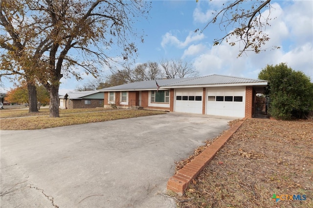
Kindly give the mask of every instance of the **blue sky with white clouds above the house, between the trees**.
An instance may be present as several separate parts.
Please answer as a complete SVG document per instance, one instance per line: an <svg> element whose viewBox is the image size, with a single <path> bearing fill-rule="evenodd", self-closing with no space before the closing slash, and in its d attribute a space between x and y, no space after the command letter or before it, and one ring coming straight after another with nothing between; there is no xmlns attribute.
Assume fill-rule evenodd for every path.
<svg viewBox="0 0 313 208"><path fill-rule="evenodd" d="M219 9L222 0L153 0L148 20L139 20L135 27L144 31L144 43L137 42L136 63L160 62L163 59L183 59L191 62L201 76L220 74L257 79L267 64L287 63L293 70L304 72L313 82L313 1L271 1L271 26L266 28L272 45L280 49L266 50L259 54L247 52L237 57L238 46L226 42L213 46L213 40L225 35L217 25L202 29L209 21L211 10ZM268 11L263 11L266 14ZM104 69L104 75L110 71ZM83 81L74 78L61 80L59 94L73 91L93 78L84 75ZM10 84L6 84L6 88ZM9 86L12 87L12 86ZM2 89L3 91L5 89Z"/></svg>

